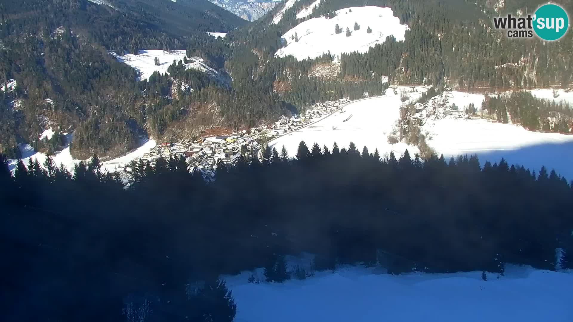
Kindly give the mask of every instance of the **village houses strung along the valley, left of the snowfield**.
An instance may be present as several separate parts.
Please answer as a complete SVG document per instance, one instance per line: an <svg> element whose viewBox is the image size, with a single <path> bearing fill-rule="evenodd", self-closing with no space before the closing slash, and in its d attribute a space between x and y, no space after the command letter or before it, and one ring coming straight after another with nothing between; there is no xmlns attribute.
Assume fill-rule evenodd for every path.
<svg viewBox="0 0 573 322"><path fill-rule="evenodd" d="M272 125L262 125L251 128L249 131L244 130L230 135L199 138L194 142L189 139L182 139L176 143L159 143L135 161L143 160L154 166L161 157L169 159L177 156L178 158L185 158L190 168L201 170L204 176L214 176L213 171L216 170L219 160L225 164L234 164L240 155L248 156L257 151L261 144L265 144L286 132L305 127L320 117L332 113L348 101L348 98L345 97L337 101L317 103L311 105L300 116L283 116L282 119ZM118 164L118 166L116 172L123 172L125 175L131 173L129 163Z"/></svg>

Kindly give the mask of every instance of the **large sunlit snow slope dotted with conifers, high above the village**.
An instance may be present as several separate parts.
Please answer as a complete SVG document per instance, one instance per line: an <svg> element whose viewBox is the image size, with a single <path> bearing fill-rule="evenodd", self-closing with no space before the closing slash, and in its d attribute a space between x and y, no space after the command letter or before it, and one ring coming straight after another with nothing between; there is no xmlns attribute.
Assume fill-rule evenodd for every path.
<svg viewBox="0 0 573 322"><path fill-rule="evenodd" d="M355 22L360 25L359 30L354 30ZM342 28L341 33L335 33L336 25ZM371 33L367 32L368 27ZM350 29L350 37L346 36L346 28ZM368 48L382 44L387 36L403 40L407 29L408 26L402 25L390 8L350 7L337 10L336 17L331 19L319 17L299 23L281 36L285 47L279 49L274 56L292 55L297 60L303 60L319 57L328 51L337 55L355 51L364 53Z"/></svg>

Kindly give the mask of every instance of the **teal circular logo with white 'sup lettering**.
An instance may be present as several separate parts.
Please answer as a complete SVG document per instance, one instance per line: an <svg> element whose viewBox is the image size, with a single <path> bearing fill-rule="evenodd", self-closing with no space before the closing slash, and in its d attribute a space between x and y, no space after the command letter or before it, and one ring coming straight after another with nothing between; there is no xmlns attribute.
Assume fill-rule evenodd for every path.
<svg viewBox="0 0 573 322"><path fill-rule="evenodd" d="M543 40L558 40L569 28L569 17L565 10L552 3L540 6L533 19L533 30Z"/></svg>

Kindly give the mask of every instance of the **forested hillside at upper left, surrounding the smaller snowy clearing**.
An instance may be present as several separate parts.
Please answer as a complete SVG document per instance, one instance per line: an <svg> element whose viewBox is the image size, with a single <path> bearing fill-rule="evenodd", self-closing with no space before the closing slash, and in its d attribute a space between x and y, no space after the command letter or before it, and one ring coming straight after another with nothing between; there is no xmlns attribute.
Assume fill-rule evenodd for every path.
<svg viewBox="0 0 573 322"><path fill-rule="evenodd" d="M93 152L118 155L140 136L160 135L182 107L198 101L204 76L173 102L172 79L157 75L138 82L134 69L108 54L139 49L187 49L222 68L229 45L206 32L226 32L247 23L208 1L116 0L2 2L0 33L0 150L18 156L18 143L56 148L70 142L37 142L48 126L74 132L76 158ZM191 79L193 78L193 80ZM6 90L5 90L6 89ZM197 96L191 98L190 92ZM203 95L204 97L205 95Z"/></svg>

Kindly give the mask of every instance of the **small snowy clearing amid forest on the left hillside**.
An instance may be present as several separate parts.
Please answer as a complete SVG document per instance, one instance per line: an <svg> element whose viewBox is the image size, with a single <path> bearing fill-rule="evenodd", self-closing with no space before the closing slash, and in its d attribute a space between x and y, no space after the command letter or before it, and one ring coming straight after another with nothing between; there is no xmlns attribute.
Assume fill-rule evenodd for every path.
<svg viewBox="0 0 573 322"><path fill-rule="evenodd" d="M146 80L154 72L161 74L167 73L167 68L173 64L173 60L183 60L185 50L171 50L170 52L166 52L165 50L139 50L139 53L136 55L127 54L124 56L119 56L113 52L110 52L110 54L116 57L117 61L124 62L138 70L139 80ZM159 65L155 65L155 57L159 59ZM213 78L219 77L217 70L205 64L202 58L187 57L187 60L189 60L189 63L184 65L186 69L193 68L207 73Z"/></svg>

